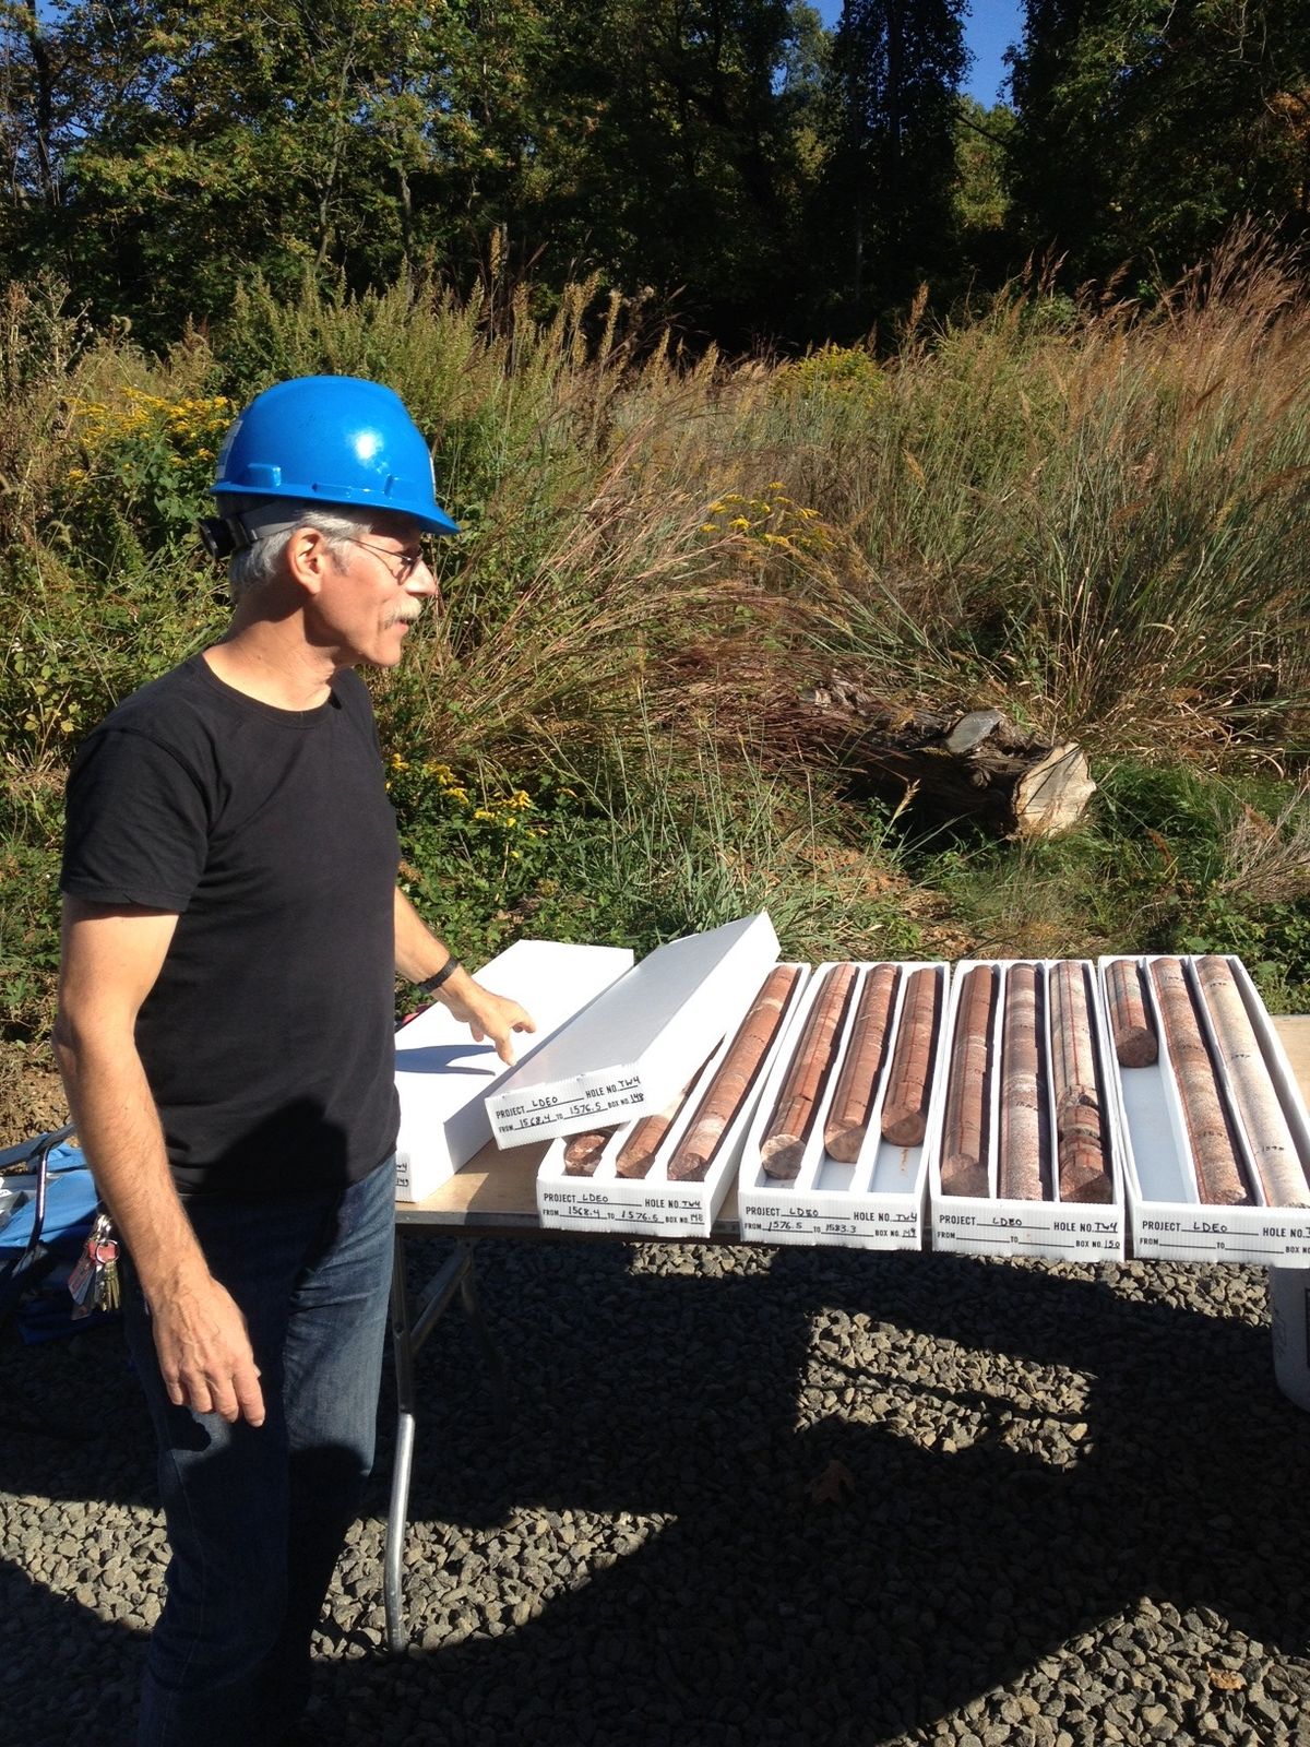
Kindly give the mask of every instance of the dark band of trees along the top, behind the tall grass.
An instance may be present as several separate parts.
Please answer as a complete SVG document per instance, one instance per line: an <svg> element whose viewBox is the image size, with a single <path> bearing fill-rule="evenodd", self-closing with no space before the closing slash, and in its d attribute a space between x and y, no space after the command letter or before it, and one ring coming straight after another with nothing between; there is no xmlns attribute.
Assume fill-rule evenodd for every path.
<svg viewBox="0 0 1310 1747"><path fill-rule="evenodd" d="M884 332L1032 252L1167 283L1310 211L1310 14L1027 0L1013 108L964 0L0 0L0 274L157 344L265 281L508 260L742 349Z"/></svg>

